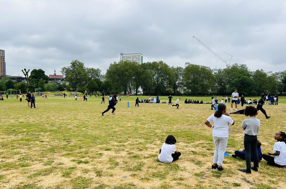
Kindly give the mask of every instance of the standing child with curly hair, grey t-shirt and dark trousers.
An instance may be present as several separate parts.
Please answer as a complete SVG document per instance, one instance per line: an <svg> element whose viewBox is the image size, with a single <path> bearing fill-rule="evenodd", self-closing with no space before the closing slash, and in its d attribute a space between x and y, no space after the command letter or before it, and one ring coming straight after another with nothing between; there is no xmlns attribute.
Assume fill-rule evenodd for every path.
<svg viewBox="0 0 286 189"><path fill-rule="evenodd" d="M241 128L244 130L244 149L245 149L245 160L246 169L239 169L242 172L251 174L253 171L258 171L258 153L257 153L257 134L259 132L260 120L257 119L257 109L254 106L246 106L244 111L245 116L249 116L243 120ZM253 167L251 167L251 151L253 154Z"/></svg>

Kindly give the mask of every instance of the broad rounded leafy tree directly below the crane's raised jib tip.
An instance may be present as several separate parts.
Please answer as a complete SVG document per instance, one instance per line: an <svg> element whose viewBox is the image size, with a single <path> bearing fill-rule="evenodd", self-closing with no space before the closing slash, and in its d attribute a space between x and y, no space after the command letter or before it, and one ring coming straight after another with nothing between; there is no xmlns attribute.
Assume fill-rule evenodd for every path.
<svg viewBox="0 0 286 189"><path fill-rule="evenodd" d="M209 93L215 85L215 76L209 67L190 64L184 69L183 82L191 94Z"/></svg>

